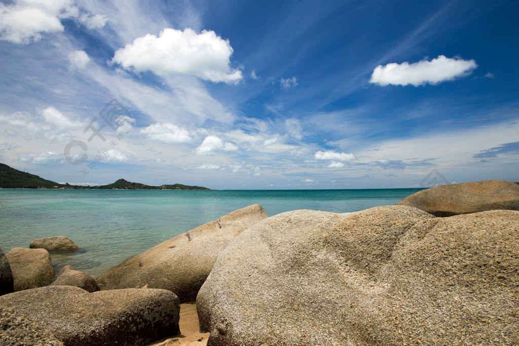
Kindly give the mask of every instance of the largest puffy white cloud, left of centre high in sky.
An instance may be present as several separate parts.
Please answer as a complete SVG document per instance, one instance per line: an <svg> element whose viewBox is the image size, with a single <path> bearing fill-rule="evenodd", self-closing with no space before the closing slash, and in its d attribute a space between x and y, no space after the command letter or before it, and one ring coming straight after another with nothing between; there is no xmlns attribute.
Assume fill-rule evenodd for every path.
<svg viewBox="0 0 519 346"><path fill-rule="evenodd" d="M137 72L151 71L159 76L193 75L213 82L237 82L241 71L229 66L233 48L229 40L216 36L214 31L197 34L162 30L159 36L147 34L136 38L125 48L118 49L113 62Z"/></svg>

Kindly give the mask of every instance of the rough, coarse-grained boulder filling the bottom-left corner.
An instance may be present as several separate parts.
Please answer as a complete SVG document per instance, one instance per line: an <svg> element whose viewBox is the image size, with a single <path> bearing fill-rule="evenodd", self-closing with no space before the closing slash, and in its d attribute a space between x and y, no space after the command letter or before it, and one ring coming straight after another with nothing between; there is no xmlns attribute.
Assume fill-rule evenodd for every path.
<svg viewBox="0 0 519 346"><path fill-rule="evenodd" d="M42 325L28 320L15 309L0 307L0 340L2 345L63 346Z"/></svg>

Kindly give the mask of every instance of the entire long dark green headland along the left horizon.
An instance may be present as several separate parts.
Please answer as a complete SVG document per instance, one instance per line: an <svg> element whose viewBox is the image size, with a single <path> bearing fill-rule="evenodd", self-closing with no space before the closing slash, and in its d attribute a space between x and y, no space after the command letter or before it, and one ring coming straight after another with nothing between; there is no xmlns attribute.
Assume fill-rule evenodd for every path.
<svg viewBox="0 0 519 346"><path fill-rule="evenodd" d="M160 186L133 183L119 179L115 183L98 186L78 186L69 183L60 184L39 177L38 175L22 172L7 164L0 163L0 188L2 189L103 189L103 190L210 190L203 186L183 184L165 184Z"/></svg>

